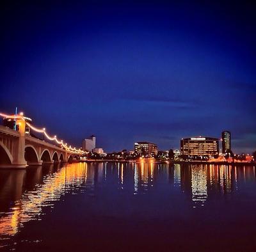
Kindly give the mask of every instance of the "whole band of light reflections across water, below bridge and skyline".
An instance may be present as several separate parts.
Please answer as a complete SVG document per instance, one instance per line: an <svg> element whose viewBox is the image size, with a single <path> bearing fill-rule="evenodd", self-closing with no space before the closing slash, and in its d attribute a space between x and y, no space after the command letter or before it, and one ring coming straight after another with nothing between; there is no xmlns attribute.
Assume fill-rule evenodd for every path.
<svg viewBox="0 0 256 252"><path fill-rule="evenodd" d="M117 184L114 190L131 191L137 197L161 187L180 196L186 194L191 209L202 209L212 192L219 197L232 194L246 181L255 183L255 167L102 162L1 170L0 245L6 246L8 240L22 232L25 223L40 221L45 207L54 208L66 194L93 195L95 185L108 191ZM152 201L156 194L152 194Z"/></svg>

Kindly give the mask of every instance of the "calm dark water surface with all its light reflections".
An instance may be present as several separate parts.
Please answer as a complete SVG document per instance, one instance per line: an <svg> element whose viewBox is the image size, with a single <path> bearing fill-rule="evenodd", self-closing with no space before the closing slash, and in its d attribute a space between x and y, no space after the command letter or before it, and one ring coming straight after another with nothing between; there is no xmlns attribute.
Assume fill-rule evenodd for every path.
<svg viewBox="0 0 256 252"><path fill-rule="evenodd" d="M256 251L255 167L76 163L0 171L0 250Z"/></svg>

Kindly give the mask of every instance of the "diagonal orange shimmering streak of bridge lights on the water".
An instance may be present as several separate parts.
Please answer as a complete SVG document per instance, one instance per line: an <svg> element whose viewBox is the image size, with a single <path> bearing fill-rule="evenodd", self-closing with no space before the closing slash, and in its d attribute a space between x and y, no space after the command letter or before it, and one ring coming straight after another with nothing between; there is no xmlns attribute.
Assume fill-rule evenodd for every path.
<svg viewBox="0 0 256 252"><path fill-rule="evenodd" d="M38 185L33 191L27 191L24 194L20 193L24 186L24 179L20 177L21 173L18 176L16 173L17 181L15 187L13 187L13 184L10 184L9 187L10 191L15 188L19 198L15 201L15 205L9 210L8 214L0 215L1 235L14 235L24 223L31 219L39 219L42 207L54 205L54 201L60 200L61 195L84 184L86 178L92 179L87 173L86 163L72 164L60 169L57 173L46 176L43 184Z"/></svg>

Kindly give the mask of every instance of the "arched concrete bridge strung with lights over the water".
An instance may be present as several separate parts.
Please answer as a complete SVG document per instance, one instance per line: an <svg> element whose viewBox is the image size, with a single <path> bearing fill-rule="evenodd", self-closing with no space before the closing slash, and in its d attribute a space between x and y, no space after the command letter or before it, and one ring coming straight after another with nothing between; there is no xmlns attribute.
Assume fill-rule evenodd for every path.
<svg viewBox="0 0 256 252"><path fill-rule="evenodd" d="M15 120L17 125L16 130L0 125L0 168L26 168L28 165L71 162L85 154L81 149L64 144L56 136L49 136L45 129L36 129L26 120L28 118L24 117L23 113L18 116L0 113L0 116ZM44 134L56 144L26 134L28 128Z"/></svg>

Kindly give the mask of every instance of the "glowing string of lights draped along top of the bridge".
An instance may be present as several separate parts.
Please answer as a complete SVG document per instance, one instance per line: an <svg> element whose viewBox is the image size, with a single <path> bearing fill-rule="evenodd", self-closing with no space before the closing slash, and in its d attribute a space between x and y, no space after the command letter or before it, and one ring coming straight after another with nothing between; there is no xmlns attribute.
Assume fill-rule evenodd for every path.
<svg viewBox="0 0 256 252"><path fill-rule="evenodd" d="M80 154L86 154L86 152L84 152L83 150L80 150L76 147L72 148L72 146L68 146L67 143L63 143L63 140L59 140L57 138L57 136L49 136L49 134L47 134L45 128L42 128L42 129L38 129L34 126L31 125L31 123L27 122L27 120L31 121L30 118L26 117L23 115L23 113L21 112L20 114L17 114L17 115L10 115L10 114L3 114L3 113L0 113L0 116L2 116L3 118L11 118L11 119L21 119L21 120L24 120L26 122L26 125L28 125L28 127L38 133L42 133L44 134L44 136L51 140L51 141L55 141L56 143L58 143L59 145L63 146L63 148L65 148L65 150L68 150L68 151L72 151L72 152L76 152L76 153L80 153Z"/></svg>

